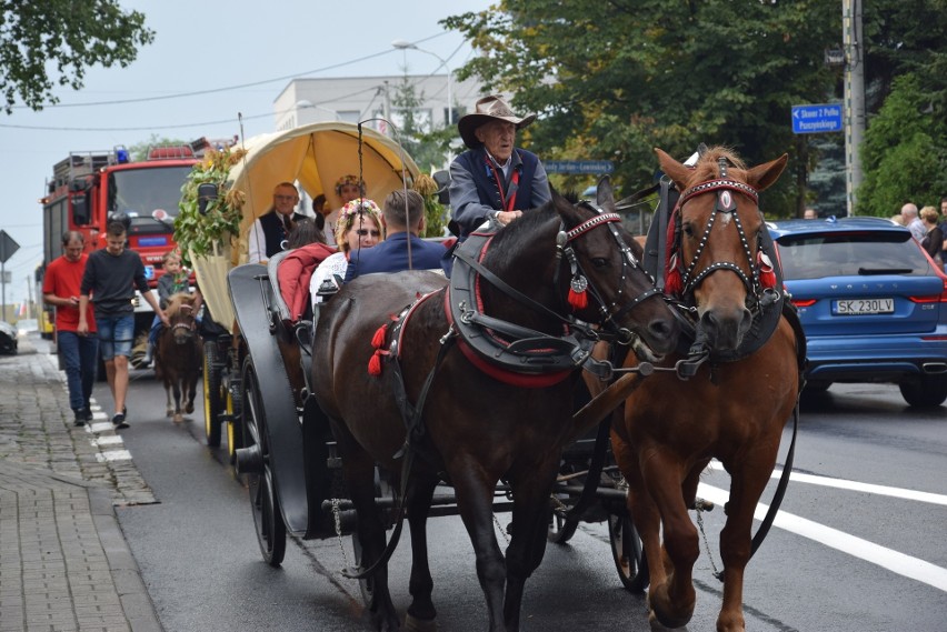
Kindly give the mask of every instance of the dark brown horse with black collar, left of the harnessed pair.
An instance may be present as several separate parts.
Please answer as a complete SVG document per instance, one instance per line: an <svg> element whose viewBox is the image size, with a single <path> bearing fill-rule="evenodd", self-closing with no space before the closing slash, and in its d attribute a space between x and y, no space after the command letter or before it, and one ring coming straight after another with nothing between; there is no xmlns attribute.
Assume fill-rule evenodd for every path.
<svg viewBox="0 0 947 632"><path fill-rule="evenodd" d="M608 191L602 207L614 211ZM358 514L361 563L370 568L382 560L370 575L369 612L376 629L398 630L400 623L381 558L385 530L375 503L373 468L378 463L396 480L402 478L398 473L408 458L407 443L416 458L405 493L413 558L406 628L437 626L426 520L435 485L443 479L453 485L474 546L489 629L519 630L525 583L545 552L560 453L577 434L572 391L586 353L581 345L566 343L566 335L595 339L612 332L612 339L649 360L670 352L678 339L677 321L640 268L640 255L617 214L554 194L551 202L525 212L495 235L471 235L458 250L449 288L432 272L369 274L322 308L312 384L338 441ZM587 304L567 299L570 292L572 299L586 294ZM419 301L420 293L427 294ZM379 330L409 304L406 320L395 322L387 334ZM571 318L570 305L580 320ZM485 327L478 329L478 322ZM600 329L588 328L588 322ZM474 328L472 337L465 328ZM516 339L495 349L498 358L525 349L519 360L498 365L478 354L479 344L496 339ZM537 364L572 352L574 361L555 372L536 371ZM386 361L379 363L380 358ZM367 370L370 361L376 374ZM514 367L520 363L525 372ZM420 423L406 419L410 412L402 417L399 399L418 411ZM501 479L514 500L506 559L492 518Z"/></svg>

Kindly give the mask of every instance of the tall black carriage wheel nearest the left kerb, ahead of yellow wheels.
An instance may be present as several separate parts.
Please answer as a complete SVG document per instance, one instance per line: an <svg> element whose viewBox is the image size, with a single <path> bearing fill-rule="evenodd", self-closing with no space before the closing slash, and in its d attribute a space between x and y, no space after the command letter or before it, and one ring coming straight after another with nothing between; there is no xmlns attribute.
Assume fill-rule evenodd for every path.
<svg viewBox="0 0 947 632"><path fill-rule="evenodd" d="M276 496L270 445L267 435L267 419L262 405L259 382L250 359L243 361L241 410L243 413L243 447L259 450L259 472L246 474L250 491L250 510L257 528L257 542L263 560L279 566L286 555L286 524Z"/></svg>

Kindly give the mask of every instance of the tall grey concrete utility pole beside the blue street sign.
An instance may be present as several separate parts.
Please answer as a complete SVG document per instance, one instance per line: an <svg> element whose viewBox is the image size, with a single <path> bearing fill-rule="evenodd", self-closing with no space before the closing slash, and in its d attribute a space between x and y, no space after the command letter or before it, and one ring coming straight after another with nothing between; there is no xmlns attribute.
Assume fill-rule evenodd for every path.
<svg viewBox="0 0 947 632"><path fill-rule="evenodd" d="M845 198L846 214L855 213L861 185L861 138L865 136L865 44L861 0L843 0L841 39L845 51Z"/></svg>

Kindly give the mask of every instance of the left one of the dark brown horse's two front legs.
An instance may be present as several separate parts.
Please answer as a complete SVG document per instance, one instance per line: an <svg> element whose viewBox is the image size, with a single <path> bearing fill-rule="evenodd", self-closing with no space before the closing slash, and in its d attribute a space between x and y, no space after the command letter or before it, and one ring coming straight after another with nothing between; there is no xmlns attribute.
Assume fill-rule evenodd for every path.
<svg viewBox="0 0 947 632"><path fill-rule="evenodd" d="M487 476L481 473L482 469L477 463L459 461L461 460L455 459L450 475L460 518L477 558L477 579L487 599L489 630L505 632L504 585L507 572L504 553L494 532L494 489L497 481L485 480Z"/></svg>

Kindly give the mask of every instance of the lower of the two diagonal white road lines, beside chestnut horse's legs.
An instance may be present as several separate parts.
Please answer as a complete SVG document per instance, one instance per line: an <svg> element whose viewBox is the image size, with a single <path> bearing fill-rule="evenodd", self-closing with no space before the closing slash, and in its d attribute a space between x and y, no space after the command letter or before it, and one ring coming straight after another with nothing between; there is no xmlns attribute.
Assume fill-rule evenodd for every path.
<svg viewBox="0 0 947 632"><path fill-rule="evenodd" d="M730 498L730 492L700 483L697 495L722 505ZM768 510L768 505L762 503L757 504L754 518L762 520ZM776 514L772 525L947 592L947 569L941 569L930 562L898 553L891 549L886 549L874 542L856 538L844 531L813 522L811 520L786 511L780 511Z"/></svg>

